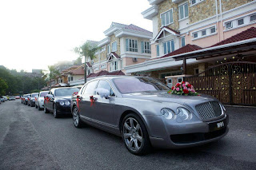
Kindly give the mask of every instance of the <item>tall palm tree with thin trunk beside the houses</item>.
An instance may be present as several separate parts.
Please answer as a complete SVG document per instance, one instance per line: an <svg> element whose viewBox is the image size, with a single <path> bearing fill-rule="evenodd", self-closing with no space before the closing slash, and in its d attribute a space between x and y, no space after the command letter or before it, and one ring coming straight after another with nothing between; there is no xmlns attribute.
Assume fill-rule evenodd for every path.
<svg viewBox="0 0 256 170"><path fill-rule="evenodd" d="M90 58L90 60L93 60L95 57L95 53L98 50L98 46L96 43L87 41L83 45L79 47L74 48L74 53L78 53L79 57L85 57L85 83L86 83L86 73L87 73L87 67L86 67L86 58Z"/></svg>

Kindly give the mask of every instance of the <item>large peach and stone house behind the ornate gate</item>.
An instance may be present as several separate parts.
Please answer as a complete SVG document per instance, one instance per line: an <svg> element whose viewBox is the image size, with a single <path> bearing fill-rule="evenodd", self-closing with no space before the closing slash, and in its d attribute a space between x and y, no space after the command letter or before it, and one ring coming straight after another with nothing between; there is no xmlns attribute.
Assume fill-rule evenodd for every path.
<svg viewBox="0 0 256 170"><path fill-rule="evenodd" d="M148 0L151 58L125 67L170 87L193 82L231 105L256 105L256 1ZM244 80L242 80L242 78Z"/></svg>

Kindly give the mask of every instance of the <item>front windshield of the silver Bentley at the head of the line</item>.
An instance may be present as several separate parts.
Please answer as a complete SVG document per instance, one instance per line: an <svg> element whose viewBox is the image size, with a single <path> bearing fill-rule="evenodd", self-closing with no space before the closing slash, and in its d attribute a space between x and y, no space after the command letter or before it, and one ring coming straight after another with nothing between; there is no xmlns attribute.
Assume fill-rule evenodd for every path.
<svg viewBox="0 0 256 170"><path fill-rule="evenodd" d="M115 78L114 84L120 93L170 90L169 87L163 85L160 81L156 81L150 77Z"/></svg>

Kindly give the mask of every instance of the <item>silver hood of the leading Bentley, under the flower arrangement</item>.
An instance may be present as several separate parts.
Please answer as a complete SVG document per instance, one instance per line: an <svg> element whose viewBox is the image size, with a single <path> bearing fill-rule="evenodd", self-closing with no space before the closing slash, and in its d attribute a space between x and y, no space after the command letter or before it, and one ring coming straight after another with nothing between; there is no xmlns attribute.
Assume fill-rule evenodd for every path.
<svg viewBox="0 0 256 170"><path fill-rule="evenodd" d="M208 101L218 101L214 97L210 97L205 94L199 94L199 96L183 96L183 95L170 94L170 93L167 93L166 91L129 93L129 94L124 94L123 97L155 101L159 103L174 102L181 105L198 105Z"/></svg>

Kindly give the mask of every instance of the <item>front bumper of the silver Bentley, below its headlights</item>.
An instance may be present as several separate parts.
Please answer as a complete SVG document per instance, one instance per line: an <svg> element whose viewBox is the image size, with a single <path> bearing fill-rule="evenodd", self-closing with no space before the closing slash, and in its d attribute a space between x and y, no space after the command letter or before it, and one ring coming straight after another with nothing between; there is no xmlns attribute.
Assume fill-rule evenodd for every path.
<svg viewBox="0 0 256 170"><path fill-rule="evenodd" d="M148 117L147 117L148 118ZM155 117L154 117L155 119ZM210 122L191 121L186 123L168 123L161 117L158 122L147 119L150 129L150 142L156 148L186 148L210 143L226 136L229 128L229 117L224 117ZM161 124L162 121L162 124ZM218 122L224 122L224 126L218 128ZM152 128L152 125L154 127ZM216 127L213 127L216 125ZM157 127L156 127L157 126Z"/></svg>

